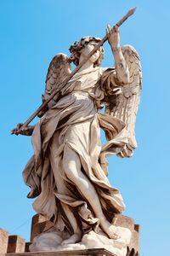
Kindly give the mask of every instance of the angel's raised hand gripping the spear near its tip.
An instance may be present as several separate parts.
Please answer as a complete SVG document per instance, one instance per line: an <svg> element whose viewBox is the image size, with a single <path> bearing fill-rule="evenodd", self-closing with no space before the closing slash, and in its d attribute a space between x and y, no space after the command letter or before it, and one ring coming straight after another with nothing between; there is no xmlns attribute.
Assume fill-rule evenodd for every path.
<svg viewBox="0 0 170 256"><path fill-rule="evenodd" d="M118 26L107 26L106 33L112 49L120 48L120 35Z"/></svg>

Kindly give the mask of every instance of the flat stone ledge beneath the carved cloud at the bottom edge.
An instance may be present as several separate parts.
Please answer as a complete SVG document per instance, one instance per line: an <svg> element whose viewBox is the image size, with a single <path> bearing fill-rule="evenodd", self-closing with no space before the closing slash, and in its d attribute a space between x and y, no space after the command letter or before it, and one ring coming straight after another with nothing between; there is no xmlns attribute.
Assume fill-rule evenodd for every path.
<svg viewBox="0 0 170 256"><path fill-rule="evenodd" d="M66 252L38 252L38 253L8 253L6 256L116 256L103 248L99 249L88 249L88 250L77 250L77 251L66 251Z"/></svg>

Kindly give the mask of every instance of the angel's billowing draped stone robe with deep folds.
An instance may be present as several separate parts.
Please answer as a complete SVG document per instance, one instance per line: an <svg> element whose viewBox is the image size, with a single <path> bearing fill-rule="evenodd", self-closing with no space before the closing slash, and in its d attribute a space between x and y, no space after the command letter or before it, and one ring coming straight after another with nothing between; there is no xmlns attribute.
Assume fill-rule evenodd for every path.
<svg viewBox="0 0 170 256"><path fill-rule="evenodd" d="M65 96L48 109L32 134L34 155L23 172L26 184L31 187L28 197L37 197L33 203L36 212L52 220L61 231L73 232L62 207L64 204L74 212L83 233L97 230L99 226L99 219L78 183L72 183L65 174L65 145L78 154L81 172L94 186L105 217L111 222L114 215L125 208L122 195L107 178L105 155L117 154L126 143L126 137L121 120L98 113L108 88L99 85L104 72L105 69L95 67L91 72L75 75ZM110 90L114 90L114 86ZM100 143L100 127L110 135L104 147Z"/></svg>

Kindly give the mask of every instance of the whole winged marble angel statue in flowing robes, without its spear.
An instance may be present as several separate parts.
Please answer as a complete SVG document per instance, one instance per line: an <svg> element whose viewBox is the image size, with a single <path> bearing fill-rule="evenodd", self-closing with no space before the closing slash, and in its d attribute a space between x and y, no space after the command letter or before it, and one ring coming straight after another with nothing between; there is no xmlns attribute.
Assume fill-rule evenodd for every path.
<svg viewBox="0 0 170 256"><path fill-rule="evenodd" d="M109 183L105 157L130 157L137 146L134 125L141 68L136 50L129 45L120 47L118 26L108 26L106 32L115 66L100 67L104 58L101 46L66 89L48 102L37 125L19 132L19 124L13 131L32 137L34 155L23 177L31 188L28 197L37 197L33 208L53 223L51 232L60 236L59 246L81 243L92 231L113 241L121 236L114 218L125 204ZM71 57L54 56L43 101L69 76L71 62L77 66L99 42L100 38L84 37L71 45ZM104 107L105 113L99 112ZM105 145L100 143L100 128L105 131ZM49 234L50 230L42 235Z"/></svg>

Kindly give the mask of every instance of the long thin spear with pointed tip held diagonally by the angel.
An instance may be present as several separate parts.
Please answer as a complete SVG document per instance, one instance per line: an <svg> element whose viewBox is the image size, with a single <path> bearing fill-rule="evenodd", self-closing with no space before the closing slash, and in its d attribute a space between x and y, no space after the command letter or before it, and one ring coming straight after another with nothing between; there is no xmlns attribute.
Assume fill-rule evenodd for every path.
<svg viewBox="0 0 170 256"><path fill-rule="evenodd" d="M133 13L135 12L136 8L130 9L127 12L127 15L123 16L121 20L119 20L116 23L116 26L121 26L122 23L127 20L128 17L130 17L131 15L133 15ZM43 102L42 105L37 108L37 110L31 114L31 116L29 117L29 119L26 120L26 122L20 127L20 129L18 129L18 131L22 131L22 128L26 127L27 125L29 125L31 123L31 120L34 119L38 113L40 113L40 111L42 111L43 108L45 108L48 104L48 102L50 102L54 96L56 96L56 94L59 92L59 90L61 90L61 88L65 88L65 90L68 88L68 82L69 80L78 72L78 70L88 61L88 59L94 55L94 53L99 49L100 46L102 46L105 41L107 41L108 37L107 35L105 35L104 38L101 39L101 41L99 41L99 44L96 44L96 46L94 47L94 49L87 55L87 57L71 72L71 74L64 80L64 82L62 84L59 84L58 88L56 90L54 90L54 92L51 94L51 96L48 97L48 100L46 100L46 102ZM13 134L13 133L12 133Z"/></svg>

